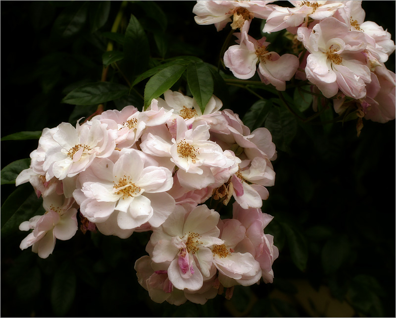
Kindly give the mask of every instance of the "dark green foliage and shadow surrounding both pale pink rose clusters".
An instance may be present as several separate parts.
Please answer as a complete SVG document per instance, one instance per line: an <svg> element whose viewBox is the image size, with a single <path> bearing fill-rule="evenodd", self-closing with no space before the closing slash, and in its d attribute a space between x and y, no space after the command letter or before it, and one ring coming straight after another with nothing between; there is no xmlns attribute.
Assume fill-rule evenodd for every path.
<svg viewBox="0 0 396 318"><path fill-rule="evenodd" d="M370 2L363 1L366 20L394 40L394 10ZM278 94L257 76L236 81L219 62L229 26L197 25L194 4L3 1L1 316L308 317L297 298L302 281L328 287L354 317L394 317L395 121L363 120L357 137L356 113L339 118L307 83L291 81ZM271 50L287 53L284 31L264 36ZM387 67L395 71L394 55ZM137 281L134 264L147 255L149 232L123 240L78 231L57 240L45 260L19 249L28 234L19 224L44 213L30 184L14 186L42 130L100 110L142 110L168 89L194 97L202 111L214 93L251 131L271 132L276 181L262 210L274 216L265 233L280 251L273 284L236 286L231 300L222 294L203 306L175 307L153 303Z"/></svg>

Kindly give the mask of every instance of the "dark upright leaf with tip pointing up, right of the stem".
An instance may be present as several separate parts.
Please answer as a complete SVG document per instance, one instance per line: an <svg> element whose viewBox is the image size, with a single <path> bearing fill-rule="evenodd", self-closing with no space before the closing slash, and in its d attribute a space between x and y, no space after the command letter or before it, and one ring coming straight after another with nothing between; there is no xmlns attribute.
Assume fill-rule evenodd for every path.
<svg viewBox="0 0 396 318"><path fill-rule="evenodd" d="M148 38L138 19L131 14L124 40L126 74L132 78L147 69L150 57Z"/></svg>

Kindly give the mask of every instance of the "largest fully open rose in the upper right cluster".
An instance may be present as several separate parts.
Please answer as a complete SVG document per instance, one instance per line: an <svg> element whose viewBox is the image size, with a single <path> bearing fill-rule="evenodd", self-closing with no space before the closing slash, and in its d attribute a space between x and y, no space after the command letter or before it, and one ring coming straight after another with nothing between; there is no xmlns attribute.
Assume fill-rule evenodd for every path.
<svg viewBox="0 0 396 318"><path fill-rule="evenodd" d="M354 99L364 98L370 69L366 66L363 32L349 31L347 25L330 17L312 30L298 28L298 40L309 51L305 73L327 98L341 90Z"/></svg>

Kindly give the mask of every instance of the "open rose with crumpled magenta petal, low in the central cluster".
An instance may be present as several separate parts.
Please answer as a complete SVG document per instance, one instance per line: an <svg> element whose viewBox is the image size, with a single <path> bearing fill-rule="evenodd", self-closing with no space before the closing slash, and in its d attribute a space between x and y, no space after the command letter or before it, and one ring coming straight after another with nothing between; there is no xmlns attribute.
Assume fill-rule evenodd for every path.
<svg viewBox="0 0 396 318"><path fill-rule="evenodd" d="M204 277L212 275L213 245L221 245L217 228L219 213L205 205L186 213L177 206L169 218L153 229L149 244L153 246L152 261L164 263L172 285L180 290L197 291Z"/></svg>

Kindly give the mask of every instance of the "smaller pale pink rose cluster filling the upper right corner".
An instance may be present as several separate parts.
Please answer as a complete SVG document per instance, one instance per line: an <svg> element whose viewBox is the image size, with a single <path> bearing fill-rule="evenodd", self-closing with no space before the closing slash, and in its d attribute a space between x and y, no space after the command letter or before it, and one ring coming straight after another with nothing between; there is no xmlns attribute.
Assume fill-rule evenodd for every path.
<svg viewBox="0 0 396 318"><path fill-rule="evenodd" d="M291 0L291 7L271 2L197 1L193 9L198 24L214 24L219 31L232 22L232 29L240 29L234 33L238 45L224 53L235 77L251 78L257 69L263 83L284 91L295 76L333 98L337 113L352 107L359 118L395 119L395 73L384 64L395 43L381 26L364 21L361 1ZM263 33L286 29L294 54L280 56L269 50L266 37L248 35L253 18L266 20Z"/></svg>

